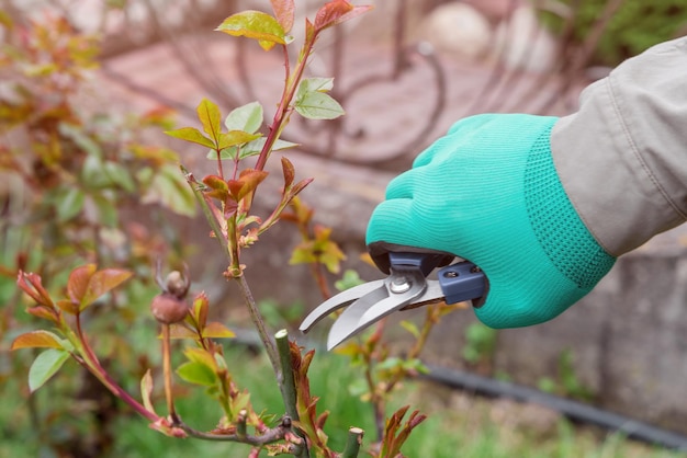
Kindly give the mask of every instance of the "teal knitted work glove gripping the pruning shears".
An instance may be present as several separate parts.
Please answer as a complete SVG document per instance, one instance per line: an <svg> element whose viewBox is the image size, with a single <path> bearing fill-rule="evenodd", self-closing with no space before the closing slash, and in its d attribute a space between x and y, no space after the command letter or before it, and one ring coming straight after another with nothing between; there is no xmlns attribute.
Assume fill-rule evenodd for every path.
<svg viewBox="0 0 687 458"><path fill-rule="evenodd" d="M402 247L473 262L488 280L475 313L492 328L550 320L589 293L615 257L561 185L550 147L556 119L491 114L454 124L374 210L367 243L378 265Z"/></svg>

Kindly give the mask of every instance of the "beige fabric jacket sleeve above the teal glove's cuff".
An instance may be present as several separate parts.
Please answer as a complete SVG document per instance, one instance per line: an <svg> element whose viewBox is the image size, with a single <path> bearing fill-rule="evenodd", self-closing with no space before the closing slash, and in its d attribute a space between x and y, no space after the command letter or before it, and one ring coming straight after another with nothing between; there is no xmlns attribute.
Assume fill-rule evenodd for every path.
<svg viewBox="0 0 687 458"><path fill-rule="evenodd" d="M654 46L585 89L551 136L577 213L612 255L687 220L687 37Z"/></svg>

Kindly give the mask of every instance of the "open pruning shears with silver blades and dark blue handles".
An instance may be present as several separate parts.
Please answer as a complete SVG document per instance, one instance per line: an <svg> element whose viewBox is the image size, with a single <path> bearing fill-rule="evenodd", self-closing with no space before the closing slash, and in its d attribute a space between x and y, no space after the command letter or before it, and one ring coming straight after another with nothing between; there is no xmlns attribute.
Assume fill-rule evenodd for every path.
<svg viewBox="0 0 687 458"><path fill-rule="evenodd" d="M442 267L437 279L427 276L446 259L444 254L388 253L390 275L346 289L324 301L301 323L301 331L329 313L348 306L329 330L327 350L331 350L382 318L397 310L407 310L444 301L457 304L484 296L486 277L469 261Z"/></svg>

